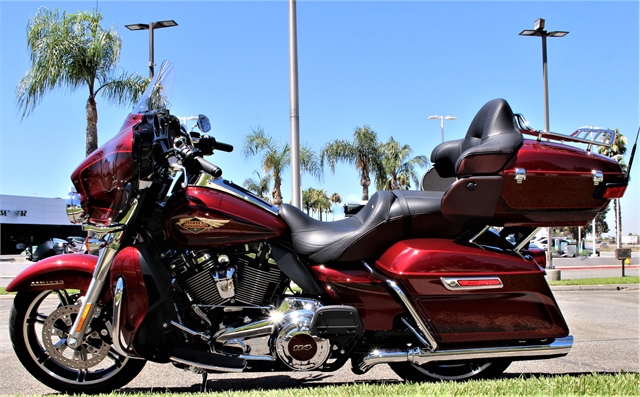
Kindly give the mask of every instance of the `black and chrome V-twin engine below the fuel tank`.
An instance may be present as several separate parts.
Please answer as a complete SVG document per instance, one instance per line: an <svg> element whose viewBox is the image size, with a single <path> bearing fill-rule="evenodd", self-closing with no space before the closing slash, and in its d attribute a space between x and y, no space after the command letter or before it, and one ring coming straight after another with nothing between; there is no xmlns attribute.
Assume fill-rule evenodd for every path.
<svg viewBox="0 0 640 397"><path fill-rule="evenodd" d="M330 363L332 351L343 353L346 341L355 336L347 330L348 324L362 330L355 308L336 309L315 299L285 296L289 279L270 257L267 244L172 251L165 253L165 260L180 313L180 324L174 326L185 336L197 336L186 339L191 348L200 350L205 343L219 354L278 360L293 370L309 371ZM344 308L348 308L346 322L341 314ZM323 310L322 317L330 323L312 332L314 318ZM328 331L336 328L344 331L346 339Z"/></svg>

